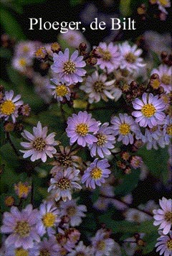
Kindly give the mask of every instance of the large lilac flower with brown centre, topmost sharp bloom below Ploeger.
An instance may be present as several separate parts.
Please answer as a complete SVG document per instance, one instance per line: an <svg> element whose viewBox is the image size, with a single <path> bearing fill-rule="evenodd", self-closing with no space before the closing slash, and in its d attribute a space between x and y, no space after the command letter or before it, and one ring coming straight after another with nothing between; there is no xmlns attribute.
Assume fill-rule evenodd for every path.
<svg viewBox="0 0 172 256"><path fill-rule="evenodd" d="M83 69L86 63L82 56L78 57L78 51L72 53L70 57L70 50L67 48L65 52L54 53L54 63L51 68L54 73L57 73L60 81L77 83L82 82L82 76L85 76L86 70Z"/></svg>

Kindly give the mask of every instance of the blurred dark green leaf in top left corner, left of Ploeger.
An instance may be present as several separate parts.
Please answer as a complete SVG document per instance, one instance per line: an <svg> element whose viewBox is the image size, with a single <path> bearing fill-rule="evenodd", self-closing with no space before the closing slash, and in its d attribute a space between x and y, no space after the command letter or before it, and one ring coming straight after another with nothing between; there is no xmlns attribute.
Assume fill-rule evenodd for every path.
<svg viewBox="0 0 172 256"><path fill-rule="evenodd" d="M11 35L11 37L15 37L18 40L26 39L19 23L16 21L14 16L6 9L1 8L0 22L6 34Z"/></svg>

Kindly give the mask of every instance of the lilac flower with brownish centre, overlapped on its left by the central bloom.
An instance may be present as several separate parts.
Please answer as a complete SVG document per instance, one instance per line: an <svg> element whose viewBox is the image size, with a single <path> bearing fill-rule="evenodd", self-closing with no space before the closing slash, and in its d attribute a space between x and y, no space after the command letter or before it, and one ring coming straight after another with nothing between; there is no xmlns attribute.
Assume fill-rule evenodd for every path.
<svg viewBox="0 0 172 256"><path fill-rule="evenodd" d="M110 155L110 149L113 149L115 144L112 127L109 127L108 123L102 124L95 137L97 142L89 145L91 156L99 155L103 158L105 155Z"/></svg>

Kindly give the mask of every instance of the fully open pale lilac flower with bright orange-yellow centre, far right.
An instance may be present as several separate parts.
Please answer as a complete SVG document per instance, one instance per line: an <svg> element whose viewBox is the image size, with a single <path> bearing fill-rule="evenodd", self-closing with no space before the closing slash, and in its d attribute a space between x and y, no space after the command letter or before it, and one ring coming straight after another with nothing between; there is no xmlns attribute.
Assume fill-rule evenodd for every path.
<svg viewBox="0 0 172 256"><path fill-rule="evenodd" d="M166 109L166 104L162 99L158 99L158 95L153 96L152 93L143 93L142 100L135 99L133 101L132 115L136 117L135 122L139 123L140 127L154 127L157 124L162 124L165 114L163 110Z"/></svg>

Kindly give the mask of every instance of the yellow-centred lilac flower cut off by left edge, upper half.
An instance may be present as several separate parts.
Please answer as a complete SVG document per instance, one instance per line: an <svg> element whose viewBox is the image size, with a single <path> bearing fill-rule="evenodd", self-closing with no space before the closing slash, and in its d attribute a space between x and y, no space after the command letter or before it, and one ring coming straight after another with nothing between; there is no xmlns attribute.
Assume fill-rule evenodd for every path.
<svg viewBox="0 0 172 256"><path fill-rule="evenodd" d="M6 121L11 116L11 119L15 123L16 117L19 116L19 106L23 104L23 101L19 101L20 98L21 95L14 97L14 91L6 91L0 104L0 118L3 117Z"/></svg>

